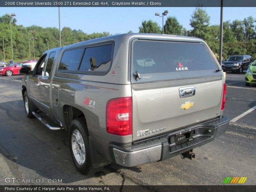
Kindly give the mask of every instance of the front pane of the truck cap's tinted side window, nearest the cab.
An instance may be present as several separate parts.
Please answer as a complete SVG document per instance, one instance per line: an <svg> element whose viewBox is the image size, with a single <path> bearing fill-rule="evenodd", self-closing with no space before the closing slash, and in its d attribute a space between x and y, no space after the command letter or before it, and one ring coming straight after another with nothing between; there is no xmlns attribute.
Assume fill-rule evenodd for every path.
<svg viewBox="0 0 256 192"><path fill-rule="evenodd" d="M77 71L84 48L65 51L61 58L59 70Z"/></svg>

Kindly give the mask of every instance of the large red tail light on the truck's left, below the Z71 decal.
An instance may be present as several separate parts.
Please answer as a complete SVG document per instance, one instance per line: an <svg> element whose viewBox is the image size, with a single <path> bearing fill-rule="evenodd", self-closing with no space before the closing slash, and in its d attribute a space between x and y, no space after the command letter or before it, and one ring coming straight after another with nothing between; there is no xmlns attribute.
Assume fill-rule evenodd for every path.
<svg viewBox="0 0 256 192"><path fill-rule="evenodd" d="M106 108L107 132L114 135L132 134L132 97L109 100Z"/></svg>

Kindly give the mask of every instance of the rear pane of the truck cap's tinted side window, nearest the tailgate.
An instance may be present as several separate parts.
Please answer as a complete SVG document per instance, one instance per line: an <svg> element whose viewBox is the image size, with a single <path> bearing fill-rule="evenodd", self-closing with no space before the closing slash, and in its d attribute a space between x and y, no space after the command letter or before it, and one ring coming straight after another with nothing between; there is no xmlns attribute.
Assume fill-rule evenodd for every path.
<svg viewBox="0 0 256 192"><path fill-rule="evenodd" d="M111 65L112 44L88 47L79 71L107 72Z"/></svg>

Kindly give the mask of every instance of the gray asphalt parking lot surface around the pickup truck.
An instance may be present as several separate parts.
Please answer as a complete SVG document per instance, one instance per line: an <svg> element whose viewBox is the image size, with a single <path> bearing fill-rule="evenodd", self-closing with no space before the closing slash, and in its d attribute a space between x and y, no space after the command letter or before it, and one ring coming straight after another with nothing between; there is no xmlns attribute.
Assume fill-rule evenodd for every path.
<svg viewBox="0 0 256 192"><path fill-rule="evenodd" d="M0 76L0 185L33 184L5 182L12 177L40 179L36 184L42 185L143 185L142 191L152 189L148 185L222 185L225 177L256 183L256 86L245 86L244 74L227 73L224 114L234 122L225 134L195 148L195 160L175 156L132 168L112 163L86 176L73 165L66 131L48 130L26 117L20 84L21 76Z"/></svg>

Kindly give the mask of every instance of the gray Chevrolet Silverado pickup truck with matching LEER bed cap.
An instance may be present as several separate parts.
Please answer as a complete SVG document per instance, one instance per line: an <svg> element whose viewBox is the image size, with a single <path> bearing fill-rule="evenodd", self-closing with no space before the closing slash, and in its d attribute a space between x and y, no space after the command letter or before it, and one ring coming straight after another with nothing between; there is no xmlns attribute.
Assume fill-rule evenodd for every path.
<svg viewBox="0 0 256 192"><path fill-rule="evenodd" d="M68 131L83 174L111 162L193 158L229 122L223 72L198 38L102 37L48 50L20 73L26 115Z"/></svg>

